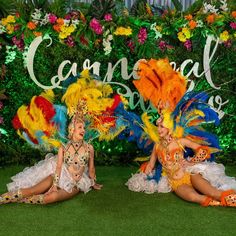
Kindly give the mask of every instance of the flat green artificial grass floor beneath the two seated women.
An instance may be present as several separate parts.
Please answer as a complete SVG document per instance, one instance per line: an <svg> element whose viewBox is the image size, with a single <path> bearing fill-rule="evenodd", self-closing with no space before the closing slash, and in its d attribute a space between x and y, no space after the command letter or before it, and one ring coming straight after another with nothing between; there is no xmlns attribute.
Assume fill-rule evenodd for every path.
<svg viewBox="0 0 236 236"><path fill-rule="evenodd" d="M0 192L22 167L0 169ZM97 167L101 191L51 205L0 205L0 235L236 235L236 209L204 208L173 193L131 192L135 167ZM227 167L236 176L236 167Z"/></svg>

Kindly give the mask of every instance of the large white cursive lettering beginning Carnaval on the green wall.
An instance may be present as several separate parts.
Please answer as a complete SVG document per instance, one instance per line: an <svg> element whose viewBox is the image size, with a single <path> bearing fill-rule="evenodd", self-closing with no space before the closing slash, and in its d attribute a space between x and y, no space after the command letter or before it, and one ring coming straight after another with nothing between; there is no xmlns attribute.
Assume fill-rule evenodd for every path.
<svg viewBox="0 0 236 236"><path fill-rule="evenodd" d="M51 85L48 86L48 85L41 84L34 74L34 57L37 52L37 48L44 40L50 40L50 43L47 45L47 47L49 47L52 43L52 39L48 35L47 35L47 37L39 36L39 37L35 38L29 47L29 51L27 54L27 60L26 60L29 75L30 75L31 79L35 82L35 84L37 84L42 89L47 90L47 89L54 89L54 88L62 88L60 85L62 81L65 81L67 78L69 78L72 75L76 76L78 74L77 63L75 63L75 62L72 63L69 60L63 61L58 67L57 75L55 75L51 78ZM212 80L211 68L210 68L210 64L213 60L214 54L216 53L218 44L219 44L218 39L215 39L212 36L207 37L206 45L204 47L204 52L203 52L203 69L204 69L204 71L199 72L200 63L194 62L191 59L186 59L185 61L183 61L179 68L177 68L177 65L175 62L171 62L171 65L173 66L173 68L175 70L180 71L186 77L190 77L192 74L197 78L205 76L206 81L211 86L211 88L213 88L215 90L219 90L221 87L216 86L214 84L214 82ZM211 48L213 48L213 49L211 50ZM115 63L115 65L113 65L111 62L108 62L107 73L105 74L103 81L108 84L118 86L119 88L117 89L117 93L123 95L124 97L126 97L129 100L129 106L131 109L135 109L137 106L140 106L140 108L143 111L151 112L154 110L153 106L151 104L145 105L143 98L140 96L140 94L138 92L132 91L127 85L125 85L122 82L113 81L113 74L117 70L118 66L120 66L120 68L121 68L121 77L123 80L138 79L136 71L138 68L139 61L140 60L138 60L134 64L133 70L130 74L128 74L128 60L127 60L127 58L125 58L125 57L121 58L120 60L118 60ZM187 65L188 66L191 65L192 67L190 70L188 70L188 72L186 74L184 74L184 71L185 71L185 68ZM63 73L63 71L65 71L65 66L67 66L67 67L70 66L70 70L66 74ZM93 74L96 74L98 76L100 75L100 66L101 66L100 62L91 63L91 61L89 59L86 59L83 63L83 69L89 69L92 71ZM188 91L192 91L195 87L195 82L193 80L190 80L189 82L190 82L190 84L188 87ZM211 96L209 99L209 104L218 113L219 118L222 118L224 116L225 113L223 112L222 107L228 102L229 102L228 100L223 101L223 99L221 98L220 95Z"/></svg>

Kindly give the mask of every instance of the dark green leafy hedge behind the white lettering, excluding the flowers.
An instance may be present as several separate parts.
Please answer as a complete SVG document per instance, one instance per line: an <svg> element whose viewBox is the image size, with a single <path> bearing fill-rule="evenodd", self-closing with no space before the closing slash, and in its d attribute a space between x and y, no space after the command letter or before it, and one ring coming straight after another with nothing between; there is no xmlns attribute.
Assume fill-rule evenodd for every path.
<svg viewBox="0 0 236 236"><path fill-rule="evenodd" d="M65 2L65 5L62 3ZM69 2L71 5L68 5ZM94 1L95 4L96 1ZM204 69L202 65L202 55L204 46L206 43L206 37L209 34L213 34L219 37L224 30L228 30L230 34L231 46L225 45L225 43L219 44L214 57L211 60L210 72L213 83L216 86L220 86L219 90L212 89L207 83L204 76L196 78L193 75L190 79L195 82L197 90L206 90L213 97L213 102L216 108L219 106L220 110L223 110L226 114L221 120L221 125L217 128L209 127L209 131L216 133L220 138L220 144L223 151L217 157L223 163L235 164L235 137L234 130L236 129L236 122L233 115L236 109L236 83L235 83L235 47L236 42L233 38L234 31L229 27L229 24L234 19L230 16L230 13L222 13L222 17L212 24L206 23L206 14L199 13L202 6L201 1L197 1L191 11L183 13L184 15L192 13L195 17L194 20L203 22L202 27L196 27L191 31L191 50L187 50L184 43L178 39L178 32L183 27L187 27L188 21L176 12L166 12L165 15L151 16L147 13L145 6L146 1L137 1L140 4L133 8L135 16L123 15L121 13L122 7L117 11L113 8L112 1L105 4L104 1L100 1L99 9L101 11L98 15L90 15L88 4L76 3L71 1L53 1L47 4L47 1L31 1L31 5L26 6L25 1L18 1L22 4L19 10L22 18L16 19L16 25L20 25L21 28L12 34L1 34L0 37L0 91L4 90L4 94L8 99L4 100L4 107L0 111L0 115L4 118L4 124L0 124L0 128L7 130L7 135L2 134L0 143L0 165L10 163L29 163L34 162L40 158L43 158L44 153L39 151L33 151L23 140L19 138L15 130L12 127L11 120L16 114L17 109L22 104L28 104L31 97L38 95L42 92L42 89L37 87L34 82L29 78L27 69L23 66L23 51L14 49L16 52L16 58L14 61L5 64L5 58L7 55L6 45L12 46L12 38L16 36L18 39L21 35L24 35L24 46L29 46L32 40L35 38L32 30L27 29L26 24L31 20L30 14L35 10L35 4L41 5L49 12L58 14L58 17L63 17L65 8L72 8L76 6L78 10L79 24L70 36L75 41L75 46L68 47L66 44L67 39L61 39L58 36L58 32L53 29L52 24L38 25L37 31L41 32L43 36L50 35L53 39L51 46L46 47L48 41L45 40L40 44L37 49L37 53L34 58L34 72L40 83L44 85L50 85L50 79L57 75L57 69L60 63L64 60L69 60L71 63L77 63L77 71L82 70L82 64L85 59L90 59L91 63L98 61L101 63L100 75L102 78L107 73L108 63L114 64L126 57L128 59L128 74L133 70L133 66L140 58L165 58L168 57L170 61L176 62L177 67L186 60L190 59L193 63L189 63L185 68L185 74L188 73L194 63L199 64L198 74L202 74ZM136 2L136 4L137 4ZM1 2L0 2L1 3ZM29 2L30 3L30 2ZM62 4L62 5L61 5ZM61 5L61 8L60 8ZM39 5L37 5L39 6ZM93 5L94 7L95 5ZM95 9L95 8L90 8ZM108 10L109 9L109 10ZM112 11L112 21L106 22L103 20L104 14ZM48 13L49 13L48 12ZM98 10L96 10L98 12ZM85 21L81 20L82 14L86 16ZM113 35L111 41L112 52L108 55L104 54L103 39L104 35L97 35L90 27L89 22L92 17L100 18L99 23L103 26L103 33L109 31L109 34ZM160 38L155 38L156 34L154 30L151 30L151 25L156 23L156 26L160 27ZM131 35L114 35L113 33L117 27L130 27L132 29ZM147 39L141 44L138 41L138 34L140 28L147 29ZM84 37L83 42L81 37ZM128 43L132 43L133 48L128 46ZM162 48L160 45L163 43L165 46ZM213 48L212 48L213 49ZM65 67L63 71L66 74L70 70L70 65ZM204 74L204 73L203 73ZM131 80L124 81L121 76L120 67L118 67L113 74L113 81L123 83L134 91L134 86ZM114 90L121 89L119 86L114 85ZM123 92L123 91L122 91ZM62 91L55 90L56 101L60 101ZM228 103L220 108L217 105L220 95L223 99L223 103L229 100ZM136 98L135 98L136 99ZM218 100L217 100L218 99ZM137 107L135 112L141 113L141 109ZM129 144L124 141L116 140L115 142L99 142L94 141L96 148L97 163L102 165L117 165L131 163L136 156L142 156L143 153L137 150L135 144Z"/></svg>

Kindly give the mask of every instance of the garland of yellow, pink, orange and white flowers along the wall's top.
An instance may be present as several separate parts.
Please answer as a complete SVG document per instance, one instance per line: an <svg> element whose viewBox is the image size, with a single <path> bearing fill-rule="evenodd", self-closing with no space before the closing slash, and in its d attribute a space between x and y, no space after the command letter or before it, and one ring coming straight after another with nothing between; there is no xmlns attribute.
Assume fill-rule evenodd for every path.
<svg viewBox="0 0 236 236"><path fill-rule="evenodd" d="M128 13L117 16L108 12L103 19L98 20L85 17L80 11L71 11L62 18L52 12L35 9L29 22L25 22L19 14L2 18L0 35L5 34L11 38L22 57L24 47L28 47L35 37L45 34L68 47L78 44L91 48L96 46L103 50L104 55L109 55L112 48L119 47L119 38L124 38L131 52L153 41L156 41L160 51L181 44L187 51L191 51L194 50L193 41L197 41L200 36L206 39L208 35L219 38L226 47L231 47L236 41L236 11L228 8L226 0L216 1L215 5L204 3L193 15L182 16L175 11L165 11L161 16L156 16L151 14L148 5L146 11L148 17L141 21ZM10 50L9 46L12 45L6 46L6 63L10 63L14 61L15 48Z"/></svg>

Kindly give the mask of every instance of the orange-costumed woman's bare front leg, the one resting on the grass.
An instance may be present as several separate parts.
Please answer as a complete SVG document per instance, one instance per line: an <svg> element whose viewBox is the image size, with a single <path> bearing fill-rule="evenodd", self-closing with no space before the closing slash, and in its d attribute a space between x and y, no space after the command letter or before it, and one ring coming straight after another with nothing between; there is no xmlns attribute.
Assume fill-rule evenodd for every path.
<svg viewBox="0 0 236 236"><path fill-rule="evenodd" d="M175 193L180 198L189 201L201 204L205 201L206 196L199 194L192 186L183 184L179 186Z"/></svg>

